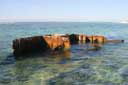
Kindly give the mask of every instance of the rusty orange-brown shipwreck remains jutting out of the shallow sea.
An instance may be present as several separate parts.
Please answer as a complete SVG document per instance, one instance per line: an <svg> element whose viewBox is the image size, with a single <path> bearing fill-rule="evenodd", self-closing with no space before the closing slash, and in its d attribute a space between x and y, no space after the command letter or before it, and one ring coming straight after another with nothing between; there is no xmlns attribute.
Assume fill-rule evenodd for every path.
<svg viewBox="0 0 128 85"><path fill-rule="evenodd" d="M13 50L15 55L26 54L30 52L45 52L56 50L68 50L71 45L79 43L104 44L107 42L123 42L123 40L108 40L104 36L85 34L53 34L45 36L33 36L13 40ZM96 45L93 45L97 47Z"/></svg>

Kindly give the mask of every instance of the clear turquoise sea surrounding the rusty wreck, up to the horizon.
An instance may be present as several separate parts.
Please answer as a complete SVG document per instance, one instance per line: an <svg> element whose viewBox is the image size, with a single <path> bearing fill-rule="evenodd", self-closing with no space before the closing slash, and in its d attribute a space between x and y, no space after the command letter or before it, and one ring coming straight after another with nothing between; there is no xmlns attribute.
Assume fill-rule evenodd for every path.
<svg viewBox="0 0 128 85"><path fill-rule="evenodd" d="M73 45L54 55L16 60L12 40L45 34L81 33L123 39L100 50ZM25 56L28 57L28 56ZM0 23L0 85L128 85L128 24L110 22Z"/></svg>

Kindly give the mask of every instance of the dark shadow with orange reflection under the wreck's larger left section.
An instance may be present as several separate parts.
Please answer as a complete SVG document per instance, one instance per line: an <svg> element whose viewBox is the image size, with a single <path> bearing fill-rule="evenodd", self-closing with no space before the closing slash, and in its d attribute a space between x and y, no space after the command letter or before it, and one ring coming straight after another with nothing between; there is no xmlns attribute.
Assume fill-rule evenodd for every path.
<svg viewBox="0 0 128 85"><path fill-rule="evenodd" d="M53 58L59 61L60 63L63 63L63 60L70 60L71 59L71 52L70 50L65 51L47 51L47 52L34 52L29 54L23 54L20 56L16 56L12 53L10 53L6 59L4 59L2 62L0 62L0 65L9 65L9 64L15 64L17 61L24 61L25 59L36 59L36 58ZM61 62L62 61L62 62Z"/></svg>

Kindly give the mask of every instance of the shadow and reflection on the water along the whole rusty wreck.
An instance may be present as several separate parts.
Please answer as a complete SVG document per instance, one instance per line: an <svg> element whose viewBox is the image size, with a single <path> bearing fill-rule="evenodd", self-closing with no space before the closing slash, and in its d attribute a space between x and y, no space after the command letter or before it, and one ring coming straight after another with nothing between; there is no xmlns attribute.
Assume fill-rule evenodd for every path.
<svg viewBox="0 0 128 85"><path fill-rule="evenodd" d="M53 58L60 64L65 64L67 60L71 61L78 61L83 60L83 58L79 58L83 55L96 55L96 52L100 52L102 45L101 44L80 44L80 45L73 45L71 50L64 50L64 51L47 51L47 52L33 52L29 54L23 54L20 56L15 56L14 54L10 54L6 57L0 65L9 65L15 64L17 61L23 61L25 59L36 59L36 58ZM98 53L97 53L98 54ZM78 56L77 58L71 58L72 56ZM87 59L87 58L85 58Z"/></svg>

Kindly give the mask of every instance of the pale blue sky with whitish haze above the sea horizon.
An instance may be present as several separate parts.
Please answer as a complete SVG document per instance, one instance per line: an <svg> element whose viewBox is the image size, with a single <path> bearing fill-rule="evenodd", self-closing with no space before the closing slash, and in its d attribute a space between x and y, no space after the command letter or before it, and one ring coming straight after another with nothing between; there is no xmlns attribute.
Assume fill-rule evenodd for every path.
<svg viewBox="0 0 128 85"><path fill-rule="evenodd" d="M128 0L0 0L0 21L120 21Z"/></svg>

